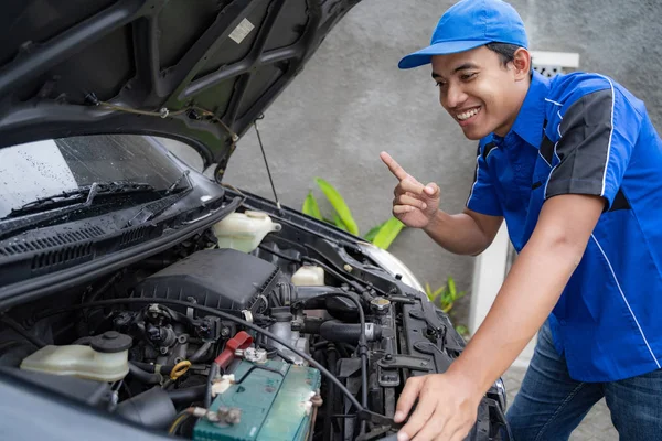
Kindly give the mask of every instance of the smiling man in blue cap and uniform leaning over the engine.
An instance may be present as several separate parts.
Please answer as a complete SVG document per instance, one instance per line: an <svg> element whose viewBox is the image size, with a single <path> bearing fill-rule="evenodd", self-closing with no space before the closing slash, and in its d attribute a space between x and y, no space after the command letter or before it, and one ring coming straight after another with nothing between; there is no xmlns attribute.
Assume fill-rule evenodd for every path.
<svg viewBox="0 0 662 441"><path fill-rule="evenodd" d="M483 394L538 330L508 412L515 440L567 440L602 397L621 440L662 439L662 141L616 82L545 78L527 47L508 3L462 0L430 46L399 63L431 64L441 106L480 141L456 215L439 209L436 184L382 153L399 180L394 215L463 255L482 252L505 218L520 255L448 372L407 381L398 440L462 440Z"/></svg>

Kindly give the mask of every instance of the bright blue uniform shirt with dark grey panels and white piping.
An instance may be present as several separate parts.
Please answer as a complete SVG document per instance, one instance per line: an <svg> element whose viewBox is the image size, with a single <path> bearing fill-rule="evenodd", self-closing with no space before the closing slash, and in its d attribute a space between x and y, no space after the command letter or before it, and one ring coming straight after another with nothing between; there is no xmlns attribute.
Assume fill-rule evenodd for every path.
<svg viewBox="0 0 662 441"><path fill-rule="evenodd" d="M659 369L662 141L643 103L608 77L534 72L510 132L479 143L467 206L504 216L517 251L543 203L559 194L605 198L549 318L570 376L610 381Z"/></svg>

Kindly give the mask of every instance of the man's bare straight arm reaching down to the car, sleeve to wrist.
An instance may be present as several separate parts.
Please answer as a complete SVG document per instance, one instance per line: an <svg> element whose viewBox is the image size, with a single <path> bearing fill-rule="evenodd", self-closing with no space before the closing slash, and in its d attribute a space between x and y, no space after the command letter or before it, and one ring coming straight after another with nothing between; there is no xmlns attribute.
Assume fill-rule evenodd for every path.
<svg viewBox="0 0 662 441"><path fill-rule="evenodd" d="M548 316L581 260L602 206L599 200L589 201L588 205L568 216L576 218L563 219L564 212L572 213L569 206L548 217L543 228L536 227L485 320L449 374L470 377L484 392L517 357Z"/></svg>

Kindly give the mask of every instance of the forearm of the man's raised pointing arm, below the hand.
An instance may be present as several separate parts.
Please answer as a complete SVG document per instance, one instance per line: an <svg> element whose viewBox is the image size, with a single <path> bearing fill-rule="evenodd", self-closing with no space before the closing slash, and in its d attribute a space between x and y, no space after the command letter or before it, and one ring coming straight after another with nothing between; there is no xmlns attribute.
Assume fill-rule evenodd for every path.
<svg viewBox="0 0 662 441"><path fill-rule="evenodd" d="M439 209L423 230L442 248L456 255L476 256L492 243L492 237L487 236L466 213L451 215Z"/></svg>

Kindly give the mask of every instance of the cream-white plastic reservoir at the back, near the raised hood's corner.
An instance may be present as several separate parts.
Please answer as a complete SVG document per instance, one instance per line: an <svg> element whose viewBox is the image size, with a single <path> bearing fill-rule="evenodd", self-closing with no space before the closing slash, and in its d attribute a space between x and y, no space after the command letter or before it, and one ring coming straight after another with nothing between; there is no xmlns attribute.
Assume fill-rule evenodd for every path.
<svg viewBox="0 0 662 441"><path fill-rule="evenodd" d="M280 224L263 212L246 211L231 213L223 220L214 224L214 235L218 239L218 248L233 248L250 252L271 232L280 232Z"/></svg>

